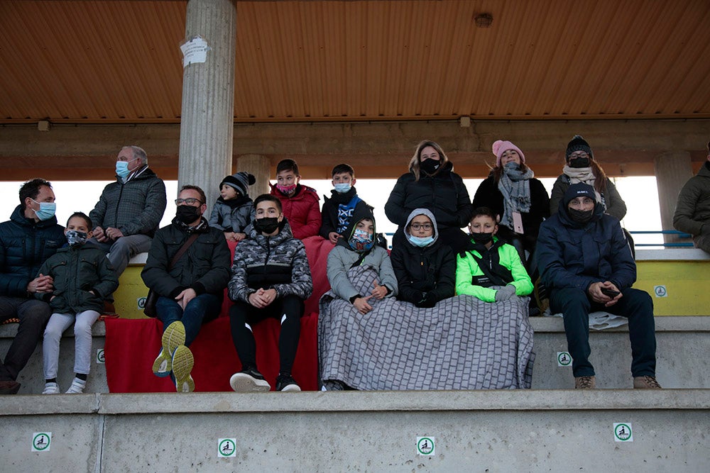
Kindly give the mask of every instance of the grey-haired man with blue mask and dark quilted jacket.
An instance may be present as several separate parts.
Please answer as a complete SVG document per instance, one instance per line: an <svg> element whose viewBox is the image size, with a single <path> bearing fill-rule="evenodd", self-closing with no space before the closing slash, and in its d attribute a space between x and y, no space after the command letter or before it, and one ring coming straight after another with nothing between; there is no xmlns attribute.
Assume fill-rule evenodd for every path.
<svg viewBox="0 0 710 473"><path fill-rule="evenodd" d="M116 160L116 182L104 187L89 217L94 243L108 253L121 275L131 257L147 252L163 218L167 199L163 179L148 168L148 156L138 146L124 146Z"/></svg>

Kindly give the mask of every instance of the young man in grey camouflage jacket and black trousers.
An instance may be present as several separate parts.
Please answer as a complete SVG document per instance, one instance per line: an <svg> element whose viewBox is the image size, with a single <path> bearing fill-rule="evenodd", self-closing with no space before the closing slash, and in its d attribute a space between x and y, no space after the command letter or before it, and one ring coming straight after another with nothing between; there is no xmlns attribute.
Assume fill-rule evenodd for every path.
<svg viewBox="0 0 710 473"><path fill-rule="evenodd" d="M229 384L237 392L268 391L271 386L256 367L256 342L251 325L279 318L280 369L276 391L300 391L291 375L300 337L303 301L313 291L305 246L293 238L279 199L269 194L254 201L256 218L249 238L234 251L229 281L231 337L242 370Z"/></svg>

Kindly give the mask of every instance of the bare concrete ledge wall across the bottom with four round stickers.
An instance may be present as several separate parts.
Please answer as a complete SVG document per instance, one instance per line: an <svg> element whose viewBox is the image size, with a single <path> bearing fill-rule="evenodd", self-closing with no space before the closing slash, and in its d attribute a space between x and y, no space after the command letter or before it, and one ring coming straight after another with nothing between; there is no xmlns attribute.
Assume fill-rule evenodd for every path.
<svg viewBox="0 0 710 473"><path fill-rule="evenodd" d="M5 471L700 472L708 425L710 389L0 396Z"/></svg>

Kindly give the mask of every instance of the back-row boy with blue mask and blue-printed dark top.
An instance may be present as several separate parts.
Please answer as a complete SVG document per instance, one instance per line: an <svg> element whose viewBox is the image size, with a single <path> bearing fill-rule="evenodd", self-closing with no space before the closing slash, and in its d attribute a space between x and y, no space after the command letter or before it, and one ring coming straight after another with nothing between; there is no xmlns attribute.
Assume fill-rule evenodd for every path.
<svg viewBox="0 0 710 473"><path fill-rule="evenodd" d="M356 206L367 206L355 190L355 171L350 165L341 164L333 168L333 187L330 199L323 196L321 210L323 221L318 233L335 245L350 225Z"/></svg>

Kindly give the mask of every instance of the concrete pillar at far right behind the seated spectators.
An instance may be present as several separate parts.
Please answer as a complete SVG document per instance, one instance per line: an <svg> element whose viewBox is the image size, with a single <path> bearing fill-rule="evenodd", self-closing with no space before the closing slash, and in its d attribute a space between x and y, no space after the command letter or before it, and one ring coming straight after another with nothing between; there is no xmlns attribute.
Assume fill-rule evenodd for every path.
<svg viewBox="0 0 710 473"><path fill-rule="evenodd" d="M690 153L687 151L669 151L657 155L654 160L658 203L661 212L663 230L673 230L673 213L678 194L683 185L693 175ZM678 241L671 235L665 235L664 241Z"/></svg>

